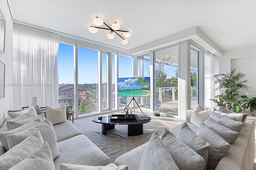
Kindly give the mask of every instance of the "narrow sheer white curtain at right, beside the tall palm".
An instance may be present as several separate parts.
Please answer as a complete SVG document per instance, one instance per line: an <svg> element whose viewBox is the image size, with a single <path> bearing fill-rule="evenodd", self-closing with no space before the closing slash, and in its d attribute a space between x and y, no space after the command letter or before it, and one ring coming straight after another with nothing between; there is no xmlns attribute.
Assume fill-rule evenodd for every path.
<svg viewBox="0 0 256 170"><path fill-rule="evenodd" d="M217 57L216 55L210 53L210 63L211 63L211 98L214 99L214 97L219 94L218 91L216 91L216 87L218 87L218 84L214 84L214 74L218 74L219 73L219 57ZM215 107L216 104L214 102L212 102L212 107Z"/></svg>

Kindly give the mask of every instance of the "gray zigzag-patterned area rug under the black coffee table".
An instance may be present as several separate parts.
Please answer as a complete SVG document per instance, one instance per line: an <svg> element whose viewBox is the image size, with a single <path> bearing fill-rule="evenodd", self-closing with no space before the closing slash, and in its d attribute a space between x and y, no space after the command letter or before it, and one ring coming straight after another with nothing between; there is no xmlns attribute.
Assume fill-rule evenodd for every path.
<svg viewBox="0 0 256 170"><path fill-rule="evenodd" d="M115 129L107 131L107 135L101 133L101 124L91 121L90 118L75 120L74 125L110 157L112 163L122 154L148 142L154 132L160 135L164 128L174 127L152 119L149 123L144 123L143 135L128 137L128 125L115 125Z"/></svg>

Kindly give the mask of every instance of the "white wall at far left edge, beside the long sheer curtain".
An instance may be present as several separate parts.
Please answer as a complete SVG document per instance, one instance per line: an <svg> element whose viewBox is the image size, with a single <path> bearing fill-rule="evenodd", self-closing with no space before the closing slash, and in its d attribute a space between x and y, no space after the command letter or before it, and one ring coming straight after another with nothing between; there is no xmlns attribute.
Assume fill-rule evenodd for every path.
<svg viewBox="0 0 256 170"><path fill-rule="evenodd" d="M0 0L0 9L6 20L5 29L5 54L0 55L0 60L5 64L5 83L13 82L12 64L12 18L7 8L7 1ZM7 117L7 110L13 108L13 88L5 86L5 98L0 99L0 126Z"/></svg>

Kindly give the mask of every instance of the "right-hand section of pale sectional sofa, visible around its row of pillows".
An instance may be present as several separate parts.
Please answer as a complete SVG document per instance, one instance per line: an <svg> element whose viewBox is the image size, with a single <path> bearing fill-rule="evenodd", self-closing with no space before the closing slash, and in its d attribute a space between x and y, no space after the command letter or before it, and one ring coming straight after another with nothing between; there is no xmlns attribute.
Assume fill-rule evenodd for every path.
<svg viewBox="0 0 256 170"><path fill-rule="evenodd" d="M186 123L195 133L198 131L198 127L190 122L191 115L193 111L188 110L186 112ZM180 130L182 124L178 125L169 131L173 135L177 135ZM228 154L223 156L215 170L253 170L254 168L254 121L246 120L242 125L238 133L238 138L232 144L230 144L230 148ZM160 134L159 134L160 135ZM140 162L142 160L142 154L146 149L148 143L141 145L121 156L119 156L114 164L116 165L128 165L129 170L138 170L140 168ZM152 155L148 155L152 156ZM209 157L208 157L209 159ZM156 163L158 162L158 158L155 158ZM180 160L180 162L184 162L186 160Z"/></svg>

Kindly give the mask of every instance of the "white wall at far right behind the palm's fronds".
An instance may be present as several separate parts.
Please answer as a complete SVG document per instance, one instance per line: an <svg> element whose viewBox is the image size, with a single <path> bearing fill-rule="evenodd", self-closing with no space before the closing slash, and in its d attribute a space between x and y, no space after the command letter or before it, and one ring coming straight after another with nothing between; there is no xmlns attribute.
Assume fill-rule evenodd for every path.
<svg viewBox="0 0 256 170"><path fill-rule="evenodd" d="M243 80L247 80L246 84L250 86L248 90L240 90L240 95L252 93L256 96L256 47L223 51L223 56L220 57L220 72L230 72L233 68L246 74Z"/></svg>

